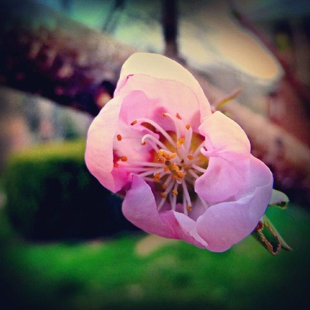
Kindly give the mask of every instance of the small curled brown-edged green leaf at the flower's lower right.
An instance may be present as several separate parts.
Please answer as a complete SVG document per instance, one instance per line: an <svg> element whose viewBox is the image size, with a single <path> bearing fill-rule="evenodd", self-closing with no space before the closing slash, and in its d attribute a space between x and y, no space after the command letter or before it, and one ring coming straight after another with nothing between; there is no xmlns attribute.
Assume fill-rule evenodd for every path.
<svg viewBox="0 0 310 310"><path fill-rule="evenodd" d="M264 248L267 248L272 255L277 255L281 248L288 251L292 250L265 215L252 232L252 236L254 236Z"/></svg>

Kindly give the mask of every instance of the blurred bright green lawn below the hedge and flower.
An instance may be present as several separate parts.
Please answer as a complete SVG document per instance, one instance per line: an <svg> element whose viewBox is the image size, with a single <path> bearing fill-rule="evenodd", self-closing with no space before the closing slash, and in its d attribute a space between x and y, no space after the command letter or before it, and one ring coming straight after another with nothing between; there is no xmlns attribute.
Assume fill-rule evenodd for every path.
<svg viewBox="0 0 310 310"><path fill-rule="evenodd" d="M251 236L225 253L179 241L146 257L135 251L144 237L139 234L71 244L27 243L3 211L0 290L12 308L298 309L307 300L310 215L296 206L268 210L294 248L278 256Z"/></svg>

